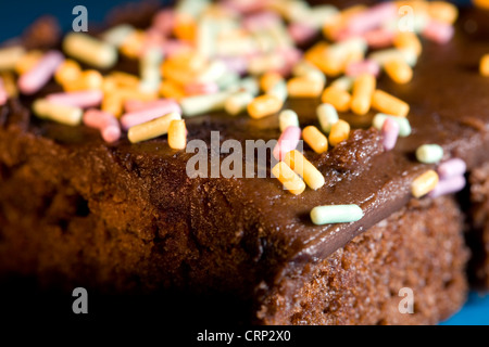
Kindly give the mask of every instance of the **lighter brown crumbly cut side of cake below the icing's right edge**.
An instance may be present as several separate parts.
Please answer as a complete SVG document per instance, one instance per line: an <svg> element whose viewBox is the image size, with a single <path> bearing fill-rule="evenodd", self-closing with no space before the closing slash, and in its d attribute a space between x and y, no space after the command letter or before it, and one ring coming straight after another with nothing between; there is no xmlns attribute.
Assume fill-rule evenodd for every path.
<svg viewBox="0 0 489 347"><path fill-rule="evenodd" d="M259 317L269 324L435 324L465 301L463 216L453 197L412 200L327 259L304 269L294 295L276 290ZM414 222L413 222L414 221ZM303 277L301 273L298 279ZM416 294L400 313L400 288Z"/></svg>

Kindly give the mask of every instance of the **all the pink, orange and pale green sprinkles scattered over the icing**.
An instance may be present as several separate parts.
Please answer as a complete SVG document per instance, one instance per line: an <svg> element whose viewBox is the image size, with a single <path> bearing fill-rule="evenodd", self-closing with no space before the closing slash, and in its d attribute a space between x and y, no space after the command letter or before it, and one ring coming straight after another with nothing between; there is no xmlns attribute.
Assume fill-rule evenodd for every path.
<svg viewBox="0 0 489 347"><path fill-rule="evenodd" d="M414 9L412 30L399 29L405 5ZM348 140L350 124L338 113L377 111L373 127L386 151L411 134L410 105L378 89L377 78L385 73L396 83L409 83L423 50L418 36L446 43L456 17L457 9L444 1L390 1L339 11L301 0L183 0L156 13L147 30L122 24L98 37L66 35L62 48L68 57L55 50L1 49L0 70L13 70L18 78L15 82L12 74L2 73L0 105L18 92L35 94L54 78L64 91L36 100L38 117L68 126L83 123L109 143L124 131L131 143L167 134L174 150L186 147L187 117L222 110L254 119L278 113L281 134L273 155L279 162L272 174L298 195L306 187L322 188L325 178L296 147L302 138L323 154ZM298 49L319 34L326 40L304 52ZM113 70L121 54L138 60L139 76ZM92 68L84 70L79 63ZM489 56L481 60L480 73L489 76ZM284 110L288 98L321 100L319 127L302 129L297 113ZM441 163L441 146L422 145L416 157L439 165L413 181L415 197L465 185L465 164ZM315 224L362 217L358 205L311 210Z"/></svg>

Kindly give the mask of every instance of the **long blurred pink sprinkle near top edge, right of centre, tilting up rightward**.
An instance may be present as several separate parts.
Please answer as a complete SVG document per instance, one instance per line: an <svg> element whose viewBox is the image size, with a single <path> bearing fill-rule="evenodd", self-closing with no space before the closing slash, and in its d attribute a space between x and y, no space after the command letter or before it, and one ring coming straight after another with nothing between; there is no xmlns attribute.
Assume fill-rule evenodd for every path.
<svg viewBox="0 0 489 347"><path fill-rule="evenodd" d="M352 15L347 24L347 30L350 34L364 34L389 20L394 20L397 16L398 8L393 2L380 3Z"/></svg>

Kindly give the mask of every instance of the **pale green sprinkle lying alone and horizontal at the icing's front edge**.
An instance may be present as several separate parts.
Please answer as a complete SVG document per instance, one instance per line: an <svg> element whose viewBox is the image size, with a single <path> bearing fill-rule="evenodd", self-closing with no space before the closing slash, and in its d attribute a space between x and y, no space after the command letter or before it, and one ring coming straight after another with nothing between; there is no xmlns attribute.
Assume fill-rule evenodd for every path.
<svg viewBox="0 0 489 347"><path fill-rule="evenodd" d="M363 211L359 205L316 206L311 210L314 224L348 223L362 219Z"/></svg>

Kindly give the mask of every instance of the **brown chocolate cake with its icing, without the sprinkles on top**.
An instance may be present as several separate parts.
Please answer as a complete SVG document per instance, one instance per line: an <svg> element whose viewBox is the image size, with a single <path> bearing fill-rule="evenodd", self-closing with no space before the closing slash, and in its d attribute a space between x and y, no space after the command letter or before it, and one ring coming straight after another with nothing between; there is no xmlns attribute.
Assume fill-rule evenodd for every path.
<svg viewBox="0 0 489 347"><path fill-rule="evenodd" d="M464 15L475 18L479 12ZM469 208L461 208L453 194L413 197L412 182L437 167L419 163L415 152L436 143L443 160L466 163L476 203L472 219L487 236L489 79L478 73L487 43L457 27L444 44L424 42L410 83L381 76L377 88L411 106L412 133L386 151L383 134L371 127L374 111L340 113L354 130L322 154L304 145L325 184L299 195L285 191L268 165L265 178L256 177L256 163L254 177L189 177L196 153L171 149L166 137L130 143L123 134L106 143L86 126L39 119L32 103L60 91L54 81L33 97L10 98L0 108L2 290L13 293L32 280L27 283L40 293L82 286L108 300L120 294L164 297L165 308L172 303L175 314L191 309L196 320L200 307L210 306L204 316L217 322L447 319L463 305L468 287L463 213ZM115 67L136 68L124 57ZM284 108L298 113L301 127L319 128L319 103L289 98ZM276 114L254 119L217 111L184 119L187 140L206 145L209 167L228 158L216 152L226 140L243 146L254 140L261 151L280 137ZM348 204L360 206L363 218L311 221L316 206ZM486 257L485 268L476 261L486 269L478 270L480 278L487 256L476 257ZM412 313L400 309L403 288L414 294Z"/></svg>

